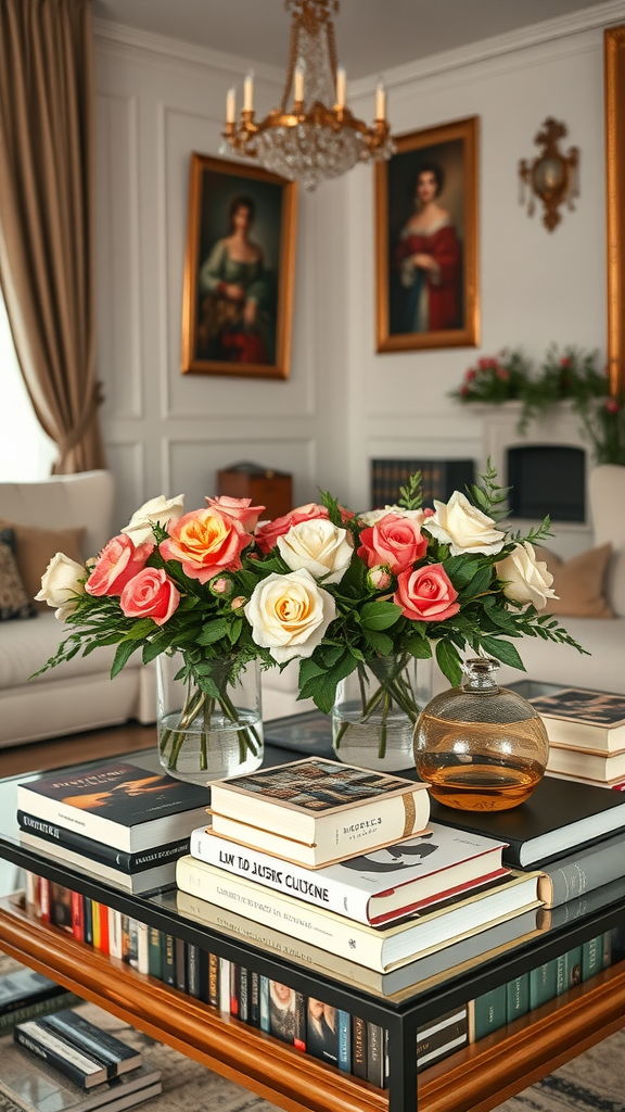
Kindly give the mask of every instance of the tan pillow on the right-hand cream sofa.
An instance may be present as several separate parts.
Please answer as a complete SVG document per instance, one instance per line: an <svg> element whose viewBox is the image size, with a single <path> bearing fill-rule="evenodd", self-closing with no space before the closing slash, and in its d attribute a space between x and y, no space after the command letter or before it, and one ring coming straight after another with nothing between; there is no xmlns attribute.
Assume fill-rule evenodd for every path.
<svg viewBox="0 0 625 1112"><path fill-rule="evenodd" d="M549 614L572 618L613 618L605 600L605 577L612 555L612 545L588 548L578 556L563 560L548 548L535 546L536 558L547 565L554 577L553 588L557 599L547 599Z"/></svg>

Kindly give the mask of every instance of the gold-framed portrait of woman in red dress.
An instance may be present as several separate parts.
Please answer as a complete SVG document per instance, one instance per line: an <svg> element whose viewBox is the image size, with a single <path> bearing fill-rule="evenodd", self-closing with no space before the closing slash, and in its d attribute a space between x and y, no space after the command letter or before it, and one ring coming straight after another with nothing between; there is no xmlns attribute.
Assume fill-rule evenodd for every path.
<svg viewBox="0 0 625 1112"><path fill-rule="evenodd" d="M377 350L476 346L477 117L395 146L376 166Z"/></svg>

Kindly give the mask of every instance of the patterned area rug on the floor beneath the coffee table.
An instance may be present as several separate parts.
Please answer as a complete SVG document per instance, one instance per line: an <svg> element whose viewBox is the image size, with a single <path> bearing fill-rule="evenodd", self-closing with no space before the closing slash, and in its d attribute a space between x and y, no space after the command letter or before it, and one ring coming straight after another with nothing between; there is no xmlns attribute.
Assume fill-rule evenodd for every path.
<svg viewBox="0 0 625 1112"><path fill-rule="evenodd" d="M0 954L0 975L18 969L18 963ZM279 1112L260 1096L226 1081L206 1066L191 1062L178 1051L130 1027L95 1004L81 1004L80 1012L92 1023L118 1034L143 1055L143 1061L161 1071L162 1093L141 1108L150 1112ZM1 1073L1 1063L0 1063ZM495 1112L624 1112L625 1030L564 1065Z"/></svg>

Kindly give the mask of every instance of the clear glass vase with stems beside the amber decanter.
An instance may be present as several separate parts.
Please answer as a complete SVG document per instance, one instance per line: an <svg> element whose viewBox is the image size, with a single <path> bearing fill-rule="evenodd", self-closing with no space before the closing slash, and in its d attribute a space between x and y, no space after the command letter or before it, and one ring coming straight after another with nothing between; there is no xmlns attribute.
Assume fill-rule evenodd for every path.
<svg viewBox="0 0 625 1112"><path fill-rule="evenodd" d="M431 659L380 656L338 685L333 745L345 764L378 772L414 768L413 733L431 698Z"/></svg>

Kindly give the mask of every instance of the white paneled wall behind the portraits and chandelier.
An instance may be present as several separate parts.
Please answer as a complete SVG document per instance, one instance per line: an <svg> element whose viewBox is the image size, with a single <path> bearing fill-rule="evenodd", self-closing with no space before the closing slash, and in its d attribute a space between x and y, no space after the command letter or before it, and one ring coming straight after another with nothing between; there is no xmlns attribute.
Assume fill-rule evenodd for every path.
<svg viewBox="0 0 625 1112"><path fill-rule="evenodd" d="M396 133L477 115L482 350L605 344L603 29L567 17L436 64L387 75ZM624 6L625 8L625 6ZM589 10L591 11L591 10ZM558 24L559 26L559 24ZM557 28L556 28L557 30ZM547 33L548 32L548 33ZM288 381L180 375L182 272L191 151L218 155L225 95L247 67L210 51L98 24L99 369L119 524L145 498L215 489L250 459L286 469L295 498L329 487L368 503L368 460L482 454L480 418L448 398L474 348L375 354L373 172L301 193ZM255 64L259 111L281 72ZM350 92L371 115L375 79ZM548 234L518 203L517 165L547 116L582 151L577 211Z"/></svg>

